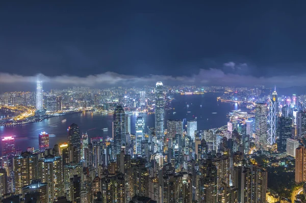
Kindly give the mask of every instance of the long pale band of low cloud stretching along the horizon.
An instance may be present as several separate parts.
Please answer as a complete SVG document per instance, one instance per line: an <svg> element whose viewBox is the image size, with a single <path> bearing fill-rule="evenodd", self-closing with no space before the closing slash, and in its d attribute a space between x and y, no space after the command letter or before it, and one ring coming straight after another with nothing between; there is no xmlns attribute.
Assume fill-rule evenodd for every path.
<svg viewBox="0 0 306 203"><path fill-rule="evenodd" d="M228 67L234 67L235 70L246 65L234 63L226 63ZM224 66L226 66L224 64ZM61 76L45 76L43 74L33 76L22 76L17 74L0 73L0 83L14 85L16 83L34 83L40 78L44 83L49 85L85 85L85 86L101 86L101 85L142 85L155 84L156 81L163 81L165 84L195 84L195 85L236 85L236 86L253 86L256 84L264 84L268 86L277 85L280 88L286 88L293 85L304 85L306 74L272 76L272 77L256 77L251 75L241 75L237 73L226 73L221 69L199 69L197 74L191 76L171 76L171 75L146 75L133 76L124 75L114 72L105 72L96 75L87 75L85 77L61 75Z"/></svg>

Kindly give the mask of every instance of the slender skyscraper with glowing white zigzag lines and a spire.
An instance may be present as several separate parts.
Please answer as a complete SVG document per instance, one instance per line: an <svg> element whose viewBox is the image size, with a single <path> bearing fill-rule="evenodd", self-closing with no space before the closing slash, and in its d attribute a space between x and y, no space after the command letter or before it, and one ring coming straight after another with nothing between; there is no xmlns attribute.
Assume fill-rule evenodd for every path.
<svg viewBox="0 0 306 203"><path fill-rule="evenodd" d="M269 114L268 114L268 145L272 146L275 143L276 134L276 99L277 93L274 91L272 93L272 98L269 98Z"/></svg>

